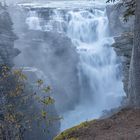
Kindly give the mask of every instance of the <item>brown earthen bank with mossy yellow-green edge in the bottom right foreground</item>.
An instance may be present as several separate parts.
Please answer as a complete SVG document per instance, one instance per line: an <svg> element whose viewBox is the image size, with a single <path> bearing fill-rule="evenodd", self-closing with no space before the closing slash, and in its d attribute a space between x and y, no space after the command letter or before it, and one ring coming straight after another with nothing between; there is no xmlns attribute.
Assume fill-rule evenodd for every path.
<svg viewBox="0 0 140 140"><path fill-rule="evenodd" d="M125 108L110 118L84 122L54 140L139 140L140 109Z"/></svg>

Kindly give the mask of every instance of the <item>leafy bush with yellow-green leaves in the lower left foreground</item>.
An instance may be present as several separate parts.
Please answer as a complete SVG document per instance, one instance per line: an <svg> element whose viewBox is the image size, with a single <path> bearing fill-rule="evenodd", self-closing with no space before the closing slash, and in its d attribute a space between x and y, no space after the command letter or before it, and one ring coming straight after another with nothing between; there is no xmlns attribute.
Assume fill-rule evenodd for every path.
<svg viewBox="0 0 140 140"><path fill-rule="evenodd" d="M0 86L2 87L0 93L6 99L1 104L0 111L3 112L3 121L18 132L23 129L31 130L33 121L38 124L42 124L42 121L44 121L44 124L46 124L48 120L50 122L56 120L56 118L59 119L59 117L54 119L47 116L47 107L55 103L55 100L50 96L51 87L45 86L44 81L39 79L35 82L38 91L36 93L29 90L27 80L28 78L22 69L11 71L5 65L0 66ZM39 112L36 112L35 102L40 104L39 106L42 108L38 110ZM42 131L45 132L45 129L42 128ZM16 132L15 140L16 137L17 140L21 140L22 136Z"/></svg>

